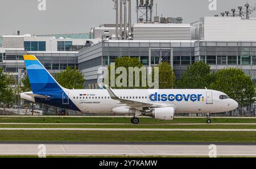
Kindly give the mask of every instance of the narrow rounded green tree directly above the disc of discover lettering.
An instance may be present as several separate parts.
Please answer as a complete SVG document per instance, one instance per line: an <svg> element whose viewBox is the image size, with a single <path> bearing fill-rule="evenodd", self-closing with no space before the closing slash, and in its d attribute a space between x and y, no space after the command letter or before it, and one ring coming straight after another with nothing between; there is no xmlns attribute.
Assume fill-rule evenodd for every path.
<svg viewBox="0 0 256 169"><path fill-rule="evenodd" d="M174 88L176 81L175 73L168 62L162 62L159 68L159 88Z"/></svg>

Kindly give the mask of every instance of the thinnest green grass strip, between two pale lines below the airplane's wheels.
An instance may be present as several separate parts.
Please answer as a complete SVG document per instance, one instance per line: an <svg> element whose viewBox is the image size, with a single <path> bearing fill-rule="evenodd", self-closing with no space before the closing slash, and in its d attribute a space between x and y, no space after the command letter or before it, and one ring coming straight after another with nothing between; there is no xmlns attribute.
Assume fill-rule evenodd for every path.
<svg viewBox="0 0 256 169"><path fill-rule="evenodd" d="M141 128L141 129L256 129L256 125L178 125L178 124L104 124L104 125L75 125L75 124L0 124L1 128Z"/></svg>

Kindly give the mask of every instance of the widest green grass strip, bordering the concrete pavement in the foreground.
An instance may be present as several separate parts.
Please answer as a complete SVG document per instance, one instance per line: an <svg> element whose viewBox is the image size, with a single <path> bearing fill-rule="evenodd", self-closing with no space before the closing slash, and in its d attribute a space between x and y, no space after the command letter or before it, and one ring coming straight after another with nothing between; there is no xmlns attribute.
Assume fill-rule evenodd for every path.
<svg viewBox="0 0 256 169"><path fill-rule="evenodd" d="M0 141L256 142L256 132L0 130Z"/></svg>

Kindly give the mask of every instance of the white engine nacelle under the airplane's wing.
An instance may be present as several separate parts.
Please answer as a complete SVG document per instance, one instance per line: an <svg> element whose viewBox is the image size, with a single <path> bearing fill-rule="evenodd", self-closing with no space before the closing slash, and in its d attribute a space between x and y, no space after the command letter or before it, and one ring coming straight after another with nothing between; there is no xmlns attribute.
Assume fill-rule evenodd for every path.
<svg viewBox="0 0 256 169"><path fill-rule="evenodd" d="M173 107L154 108L152 116L158 120L173 120L175 109Z"/></svg>

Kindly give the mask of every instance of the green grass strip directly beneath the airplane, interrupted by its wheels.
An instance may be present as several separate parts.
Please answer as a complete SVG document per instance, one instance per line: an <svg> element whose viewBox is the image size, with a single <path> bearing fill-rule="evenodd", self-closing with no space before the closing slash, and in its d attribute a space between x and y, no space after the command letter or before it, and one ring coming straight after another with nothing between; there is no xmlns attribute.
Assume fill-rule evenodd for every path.
<svg viewBox="0 0 256 169"><path fill-rule="evenodd" d="M205 123L205 118L176 118L173 121L140 118L141 124ZM256 119L211 118L212 123L256 123ZM0 117L0 122L44 122L44 123L130 123L127 117Z"/></svg>

